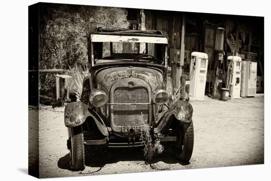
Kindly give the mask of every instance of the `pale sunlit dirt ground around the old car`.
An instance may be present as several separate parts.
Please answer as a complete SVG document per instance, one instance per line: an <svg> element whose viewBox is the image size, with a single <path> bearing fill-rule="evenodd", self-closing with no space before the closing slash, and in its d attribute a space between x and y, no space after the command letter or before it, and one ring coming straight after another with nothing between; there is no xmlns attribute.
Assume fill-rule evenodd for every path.
<svg viewBox="0 0 271 181"><path fill-rule="evenodd" d="M63 109L39 110L39 174L40 178L89 176L224 167L264 163L264 96L229 100L191 100L194 123L194 151L190 164L181 165L169 150L145 164L142 148L102 149L86 163L86 169L69 169L68 132ZM35 137L36 109L29 108L29 136ZM33 140L34 141L34 140ZM30 169L37 144L29 148Z"/></svg>

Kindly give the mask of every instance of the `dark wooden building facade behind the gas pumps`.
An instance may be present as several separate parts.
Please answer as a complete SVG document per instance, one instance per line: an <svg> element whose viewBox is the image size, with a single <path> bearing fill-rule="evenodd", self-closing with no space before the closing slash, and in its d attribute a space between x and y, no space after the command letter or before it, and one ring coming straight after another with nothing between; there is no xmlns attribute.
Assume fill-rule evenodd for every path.
<svg viewBox="0 0 271 181"><path fill-rule="evenodd" d="M257 62L257 92L264 92L263 17L128 8L127 19L131 23L130 29L168 33L169 66L175 87L180 84L180 75L189 74L191 53L199 51L208 55L205 93L212 91L217 61L216 34L218 28L223 28L221 86L225 87L226 83L227 57L234 55L244 61Z"/></svg>

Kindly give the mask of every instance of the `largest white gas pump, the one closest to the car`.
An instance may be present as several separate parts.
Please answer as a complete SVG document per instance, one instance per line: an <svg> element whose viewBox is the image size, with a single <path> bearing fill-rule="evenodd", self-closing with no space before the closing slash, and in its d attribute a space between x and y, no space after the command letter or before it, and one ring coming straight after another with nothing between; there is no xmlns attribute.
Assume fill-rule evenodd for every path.
<svg viewBox="0 0 271 181"><path fill-rule="evenodd" d="M190 62L190 98L204 99L207 67L208 55L202 52L192 52Z"/></svg>

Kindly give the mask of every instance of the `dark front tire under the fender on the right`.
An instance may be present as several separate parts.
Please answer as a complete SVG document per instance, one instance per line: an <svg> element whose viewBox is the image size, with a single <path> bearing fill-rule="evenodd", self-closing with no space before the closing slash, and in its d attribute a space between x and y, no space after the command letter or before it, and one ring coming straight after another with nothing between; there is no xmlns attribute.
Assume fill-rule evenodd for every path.
<svg viewBox="0 0 271 181"><path fill-rule="evenodd" d="M184 123L186 124L186 123ZM193 147L194 147L194 127L193 122L190 123L187 128L184 136L182 136L182 132L184 132L183 126L179 126L177 141L174 145L174 156L177 160L182 163L189 163L189 160L192 156ZM183 139L182 139L183 137Z"/></svg>

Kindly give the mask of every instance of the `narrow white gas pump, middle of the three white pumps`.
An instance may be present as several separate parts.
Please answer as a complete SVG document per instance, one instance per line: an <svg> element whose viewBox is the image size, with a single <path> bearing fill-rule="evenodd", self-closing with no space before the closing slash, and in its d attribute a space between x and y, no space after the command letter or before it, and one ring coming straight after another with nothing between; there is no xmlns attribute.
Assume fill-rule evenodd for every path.
<svg viewBox="0 0 271 181"><path fill-rule="evenodd" d="M230 95L231 98L240 98L241 91L241 66L242 59L238 56L228 56L229 64L232 71L232 76L230 78Z"/></svg>

